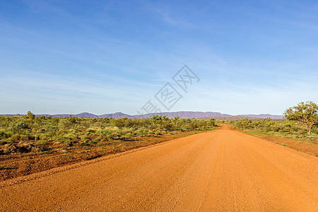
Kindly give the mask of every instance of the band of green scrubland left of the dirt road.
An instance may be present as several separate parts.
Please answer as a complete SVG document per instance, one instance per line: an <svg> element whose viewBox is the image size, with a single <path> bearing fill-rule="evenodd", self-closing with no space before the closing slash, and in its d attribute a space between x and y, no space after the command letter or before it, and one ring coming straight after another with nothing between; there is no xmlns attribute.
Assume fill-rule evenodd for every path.
<svg viewBox="0 0 318 212"><path fill-rule="evenodd" d="M129 142L214 127L215 119L52 118L28 112L23 117L0 117L0 153L52 151L52 146L105 146L112 141Z"/></svg>

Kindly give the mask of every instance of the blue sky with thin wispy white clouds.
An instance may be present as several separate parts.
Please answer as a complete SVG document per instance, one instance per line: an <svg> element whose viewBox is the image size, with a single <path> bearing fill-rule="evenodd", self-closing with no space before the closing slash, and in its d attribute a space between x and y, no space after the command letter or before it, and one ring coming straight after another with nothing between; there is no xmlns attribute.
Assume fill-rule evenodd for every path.
<svg viewBox="0 0 318 212"><path fill-rule="evenodd" d="M187 64L171 111L318 102L317 1L0 1L0 114L136 114ZM166 110L163 110L166 111Z"/></svg>

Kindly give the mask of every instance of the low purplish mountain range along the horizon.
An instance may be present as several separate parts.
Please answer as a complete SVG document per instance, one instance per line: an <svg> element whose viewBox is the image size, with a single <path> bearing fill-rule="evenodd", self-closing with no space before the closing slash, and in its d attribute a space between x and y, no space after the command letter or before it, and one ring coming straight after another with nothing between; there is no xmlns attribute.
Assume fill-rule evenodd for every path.
<svg viewBox="0 0 318 212"><path fill-rule="evenodd" d="M23 114L20 114L21 116ZM140 115L129 115L124 114L122 112L115 112L110 114L91 114L88 112L82 112L79 114L71 114L73 117L78 118L114 118L119 119L122 117L127 117L129 119L143 119L143 118L151 118L153 115L166 116L169 118L180 117L181 119L204 119L211 118L214 119L243 119L245 117L252 119L283 119L282 115L272 115L272 114L239 114L236 116L230 114L222 114L220 112L193 112L193 111L180 111L180 112L159 112L159 113L149 113L149 114L140 114ZM18 116L18 114L0 114L0 116ZM35 114L37 117L45 116L45 117L69 117L70 114Z"/></svg>

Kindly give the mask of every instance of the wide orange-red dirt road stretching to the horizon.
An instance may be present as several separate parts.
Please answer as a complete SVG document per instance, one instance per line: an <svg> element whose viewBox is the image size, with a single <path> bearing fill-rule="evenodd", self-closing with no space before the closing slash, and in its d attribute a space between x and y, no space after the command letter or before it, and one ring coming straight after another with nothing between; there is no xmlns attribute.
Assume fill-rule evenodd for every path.
<svg viewBox="0 0 318 212"><path fill-rule="evenodd" d="M318 211L316 157L229 126L46 173L0 211Z"/></svg>

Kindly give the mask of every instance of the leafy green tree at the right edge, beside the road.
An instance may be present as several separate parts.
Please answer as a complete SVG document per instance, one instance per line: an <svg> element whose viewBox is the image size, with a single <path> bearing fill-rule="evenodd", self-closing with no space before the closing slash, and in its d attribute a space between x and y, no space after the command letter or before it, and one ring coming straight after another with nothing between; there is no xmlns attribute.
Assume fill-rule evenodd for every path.
<svg viewBox="0 0 318 212"><path fill-rule="evenodd" d="M318 123L318 105L312 101L306 103L300 102L294 107L290 107L285 110L285 117L289 120L297 121L305 126L307 134L310 135L310 131L314 124Z"/></svg>

